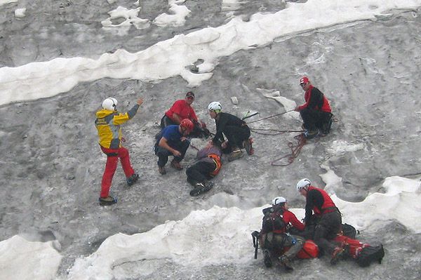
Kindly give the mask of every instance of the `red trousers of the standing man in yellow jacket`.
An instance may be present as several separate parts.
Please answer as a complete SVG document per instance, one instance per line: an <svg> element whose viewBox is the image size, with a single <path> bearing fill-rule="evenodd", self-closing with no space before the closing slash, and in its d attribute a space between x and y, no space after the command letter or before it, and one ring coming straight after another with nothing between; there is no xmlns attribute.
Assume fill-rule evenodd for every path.
<svg viewBox="0 0 421 280"><path fill-rule="evenodd" d="M128 150L126 148L121 147L119 149L107 149L101 146L101 149L104 154L107 154L107 164L105 164L104 175L102 175L100 197L107 197L119 159L126 178L133 175L135 171L131 167L130 156L128 155Z"/></svg>

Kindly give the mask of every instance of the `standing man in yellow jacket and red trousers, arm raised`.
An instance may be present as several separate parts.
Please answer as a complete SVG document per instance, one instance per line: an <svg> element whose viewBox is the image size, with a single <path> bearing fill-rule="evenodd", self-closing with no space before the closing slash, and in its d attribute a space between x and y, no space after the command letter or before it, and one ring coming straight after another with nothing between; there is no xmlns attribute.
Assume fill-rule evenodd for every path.
<svg viewBox="0 0 421 280"><path fill-rule="evenodd" d="M97 119L95 127L98 130L100 138L100 147L104 154L107 155L107 164L105 164L104 175L102 175L100 205L112 205L117 200L109 196L109 188L111 187L112 178L120 159L124 174L126 175L127 184L133 185L139 178L130 163L128 150L121 146L121 128L129 119L133 118L138 112L143 98L139 98L128 112L120 113L117 111L117 100L115 98L107 98L102 101L102 109L96 112Z"/></svg>

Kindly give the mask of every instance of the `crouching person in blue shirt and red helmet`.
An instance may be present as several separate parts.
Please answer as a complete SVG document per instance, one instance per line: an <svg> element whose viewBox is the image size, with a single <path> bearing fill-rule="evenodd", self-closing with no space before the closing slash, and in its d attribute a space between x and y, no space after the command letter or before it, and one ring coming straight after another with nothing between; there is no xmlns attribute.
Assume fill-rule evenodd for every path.
<svg viewBox="0 0 421 280"><path fill-rule="evenodd" d="M187 135L193 130L193 123L189 119L183 119L178 126L167 126L161 133L156 135L154 152L158 156L158 171L161 175L166 174L165 165L168 156L174 156L171 166L176 170L182 170L180 161L189 148L190 142Z"/></svg>

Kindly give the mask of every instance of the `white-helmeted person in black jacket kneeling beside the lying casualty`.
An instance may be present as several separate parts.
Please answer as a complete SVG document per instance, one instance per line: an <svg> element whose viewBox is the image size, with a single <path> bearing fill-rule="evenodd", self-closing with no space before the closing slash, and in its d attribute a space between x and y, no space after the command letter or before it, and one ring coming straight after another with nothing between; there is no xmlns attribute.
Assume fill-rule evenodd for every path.
<svg viewBox="0 0 421 280"><path fill-rule="evenodd" d="M229 153L229 161L234 161L243 156L241 148L246 149L247 154L253 154L250 128L245 121L232 114L221 112L220 102L210 102L208 110L210 118L215 119L216 124L216 133L212 142L214 144L218 141L222 142L222 152ZM227 140L225 140L224 135Z"/></svg>

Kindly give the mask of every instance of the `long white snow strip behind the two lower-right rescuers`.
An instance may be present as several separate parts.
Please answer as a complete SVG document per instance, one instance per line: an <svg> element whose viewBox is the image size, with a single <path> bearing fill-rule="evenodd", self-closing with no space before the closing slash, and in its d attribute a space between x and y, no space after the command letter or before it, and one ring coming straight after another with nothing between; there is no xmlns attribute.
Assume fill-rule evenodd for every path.
<svg viewBox="0 0 421 280"><path fill-rule="evenodd" d="M343 214L343 221L356 229L377 231L379 228L375 227L397 220L420 233L420 182L391 177L383 187L387 190L385 194L370 194L359 203L343 201L335 194L331 197ZM69 279L113 279L114 267L144 260L169 259L196 269L249 262L250 233L260 229L262 209L266 207L243 211L213 206L208 211L192 211L183 220L168 221L149 232L110 236L98 251L76 260L69 270ZM290 211L299 219L305 215L304 209ZM121 270L118 273L121 277Z"/></svg>

